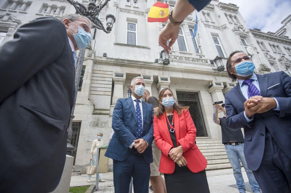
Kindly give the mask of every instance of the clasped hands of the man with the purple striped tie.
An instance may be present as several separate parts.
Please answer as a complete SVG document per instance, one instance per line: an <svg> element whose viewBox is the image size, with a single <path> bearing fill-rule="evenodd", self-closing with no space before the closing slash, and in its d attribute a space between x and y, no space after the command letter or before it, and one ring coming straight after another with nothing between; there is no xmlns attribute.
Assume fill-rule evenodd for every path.
<svg viewBox="0 0 291 193"><path fill-rule="evenodd" d="M246 116L250 118L255 113L264 113L277 107L274 98L267 98L262 96L253 96L244 102L244 109Z"/></svg>

